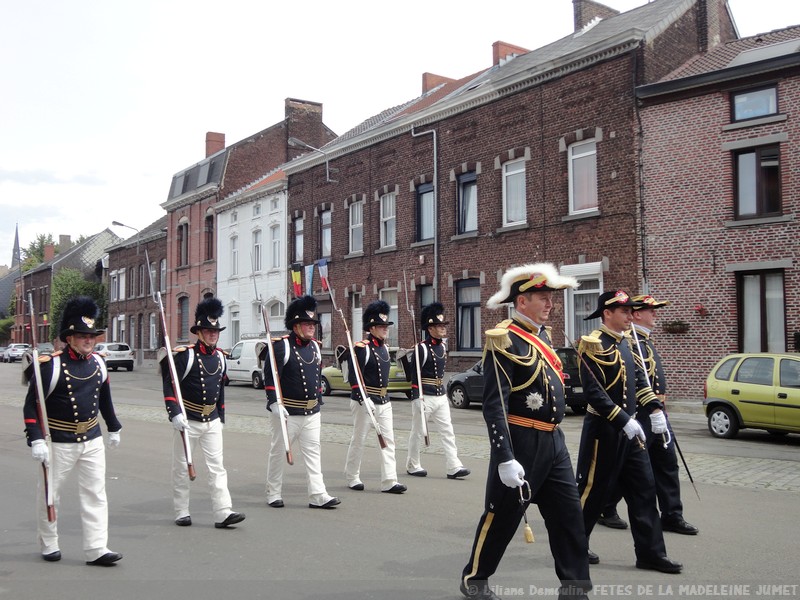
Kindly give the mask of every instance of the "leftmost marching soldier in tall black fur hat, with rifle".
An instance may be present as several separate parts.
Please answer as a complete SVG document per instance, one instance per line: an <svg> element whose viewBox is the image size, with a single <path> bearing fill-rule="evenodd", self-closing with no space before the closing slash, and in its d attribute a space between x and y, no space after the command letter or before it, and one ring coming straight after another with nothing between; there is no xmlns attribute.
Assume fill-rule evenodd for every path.
<svg viewBox="0 0 800 600"><path fill-rule="evenodd" d="M106 423L109 448L119 446L122 425L114 412L105 363L93 352L97 336L104 333L95 329L96 318L97 305L91 298L80 296L67 302L59 334L66 347L63 352L41 359L52 455L38 420L34 379L28 385L24 415L33 458L50 467L56 509L61 485L72 471L77 471L86 564L107 567L122 555L107 546L106 453L98 416L102 415ZM42 558L55 562L61 560L57 521L47 519L43 487L40 484L37 498L39 544Z"/></svg>

